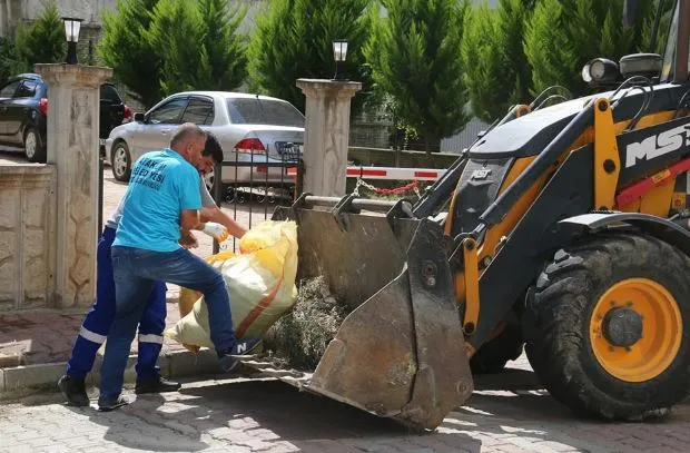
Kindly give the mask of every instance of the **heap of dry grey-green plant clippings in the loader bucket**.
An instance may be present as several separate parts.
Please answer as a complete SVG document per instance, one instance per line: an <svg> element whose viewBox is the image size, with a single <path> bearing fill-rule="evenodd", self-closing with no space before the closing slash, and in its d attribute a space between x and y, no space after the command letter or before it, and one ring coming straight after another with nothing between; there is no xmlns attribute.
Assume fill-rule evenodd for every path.
<svg viewBox="0 0 690 453"><path fill-rule="evenodd" d="M331 294L324 277L302 282L292 311L264 336L264 351L300 371L314 371L349 313Z"/></svg>

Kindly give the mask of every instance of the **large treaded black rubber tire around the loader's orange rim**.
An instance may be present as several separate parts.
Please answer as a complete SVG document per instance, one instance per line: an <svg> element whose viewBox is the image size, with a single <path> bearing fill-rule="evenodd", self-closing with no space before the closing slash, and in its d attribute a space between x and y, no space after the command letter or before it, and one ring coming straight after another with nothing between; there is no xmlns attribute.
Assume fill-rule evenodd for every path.
<svg viewBox="0 0 690 453"><path fill-rule="evenodd" d="M621 380L608 372L598 361L590 338L598 301L610 287L631 278L645 278L668 290L682 323L680 347L670 365L642 382ZM689 319L687 255L653 237L602 234L558 252L540 275L536 290L526 303L525 351L540 382L575 413L607 420L643 420L668 413L689 393ZM642 335L653 333L651 328L642 331Z"/></svg>

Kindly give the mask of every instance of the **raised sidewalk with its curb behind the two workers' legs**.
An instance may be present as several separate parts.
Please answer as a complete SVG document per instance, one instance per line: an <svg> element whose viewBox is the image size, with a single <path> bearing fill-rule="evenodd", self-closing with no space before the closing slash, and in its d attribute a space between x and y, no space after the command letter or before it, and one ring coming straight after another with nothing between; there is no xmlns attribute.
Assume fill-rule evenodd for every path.
<svg viewBox="0 0 690 453"><path fill-rule="evenodd" d="M178 288L172 287L168 290L166 328L174 326L179 319L177 299ZM0 400L57 385L58 378L65 373L65 365L87 312L88 309L66 314L41 311L0 315ZM125 375L126 382L134 382L136 378L134 365L137 346L135 338ZM96 384L100 378L103 352L105 347L98 352L93 370L87 378L89 384ZM218 371L213 351L203 349L196 355L169 338L165 338L158 365L167 377Z"/></svg>

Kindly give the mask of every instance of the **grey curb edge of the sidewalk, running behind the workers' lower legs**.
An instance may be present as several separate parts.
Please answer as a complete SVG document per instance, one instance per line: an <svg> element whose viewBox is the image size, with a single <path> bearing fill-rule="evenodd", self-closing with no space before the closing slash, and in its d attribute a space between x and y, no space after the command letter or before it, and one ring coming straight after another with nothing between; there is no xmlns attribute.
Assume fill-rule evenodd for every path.
<svg viewBox="0 0 690 453"><path fill-rule="evenodd" d="M92 372L87 376L87 385L98 385L101 363L102 356L98 355ZM130 354L125 371L125 383L136 382L136 363L137 355ZM66 362L56 362L0 368L0 401L23 396L39 390L57 391L58 380L65 374L66 365ZM189 351L161 353L158 366L160 366L160 374L169 378L220 374L216 354L210 349L204 349L198 355Z"/></svg>

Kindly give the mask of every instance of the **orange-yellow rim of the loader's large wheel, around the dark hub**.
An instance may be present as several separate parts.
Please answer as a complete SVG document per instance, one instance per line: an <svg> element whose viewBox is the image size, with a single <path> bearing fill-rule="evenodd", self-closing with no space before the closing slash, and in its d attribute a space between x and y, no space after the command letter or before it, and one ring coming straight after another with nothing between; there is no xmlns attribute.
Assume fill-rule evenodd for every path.
<svg viewBox="0 0 690 453"><path fill-rule="evenodd" d="M611 341L610 318L625 311L641 319L634 344ZM682 316L676 299L648 278L630 278L613 285L600 298L590 321L590 341L599 364L625 382L644 382L663 373L673 362L682 338Z"/></svg>

